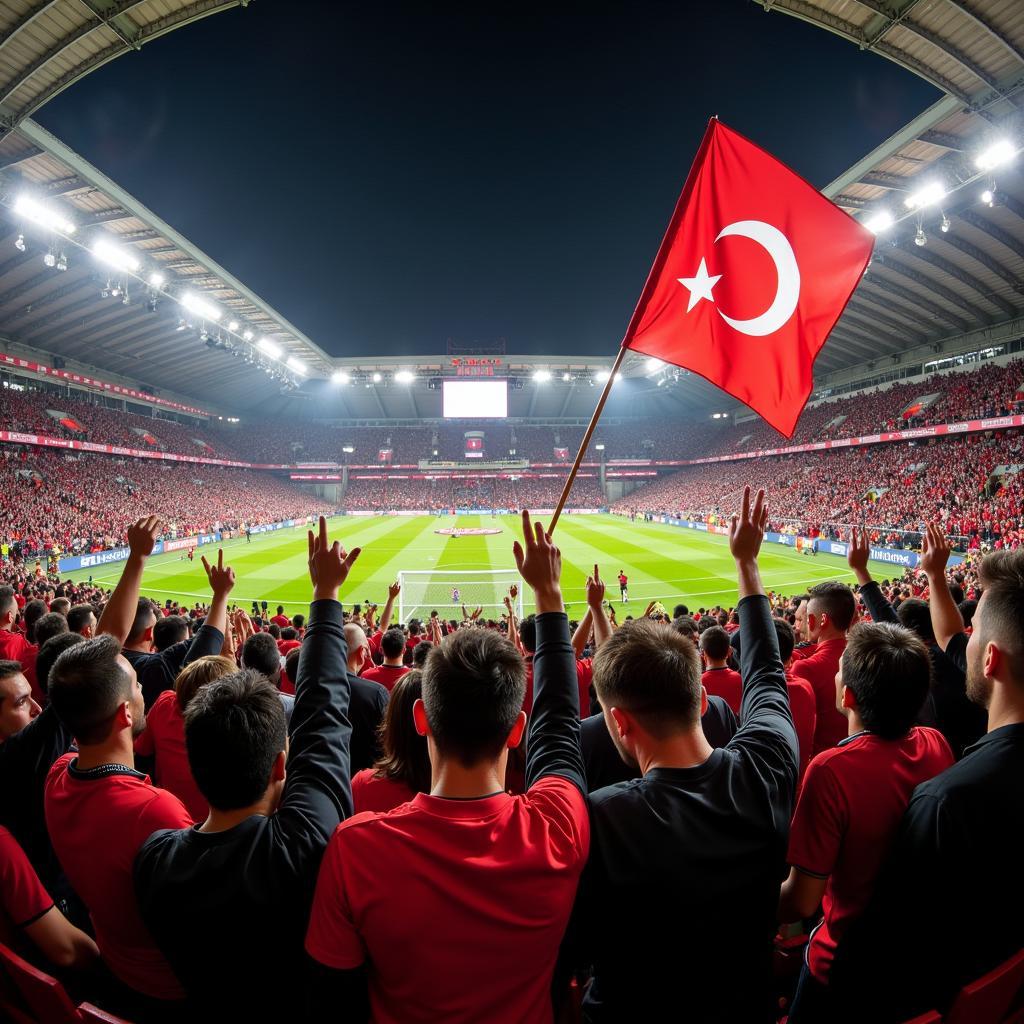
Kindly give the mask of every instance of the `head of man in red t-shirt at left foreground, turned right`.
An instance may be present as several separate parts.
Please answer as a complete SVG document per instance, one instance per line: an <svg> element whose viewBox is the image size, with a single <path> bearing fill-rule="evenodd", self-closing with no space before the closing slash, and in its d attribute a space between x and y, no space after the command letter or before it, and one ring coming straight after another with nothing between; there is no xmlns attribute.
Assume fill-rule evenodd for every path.
<svg viewBox="0 0 1024 1024"><path fill-rule="evenodd" d="M69 647L49 675L50 703L79 746L96 746L145 728L135 670L115 637L103 634Z"/></svg>

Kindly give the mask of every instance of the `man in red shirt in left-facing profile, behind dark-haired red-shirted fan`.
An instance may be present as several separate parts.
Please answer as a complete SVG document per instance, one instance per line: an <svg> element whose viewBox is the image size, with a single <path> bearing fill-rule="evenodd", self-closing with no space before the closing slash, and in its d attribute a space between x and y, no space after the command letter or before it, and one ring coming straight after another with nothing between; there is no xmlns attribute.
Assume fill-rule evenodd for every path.
<svg viewBox="0 0 1024 1024"><path fill-rule="evenodd" d="M814 753L835 746L847 735L847 722L836 708L836 673L846 649L846 631L856 612L853 591L845 583L828 581L812 587L807 602L807 631L817 644L814 653L797 662L793 675L806 679L814 690L817 722Z"/></svg>

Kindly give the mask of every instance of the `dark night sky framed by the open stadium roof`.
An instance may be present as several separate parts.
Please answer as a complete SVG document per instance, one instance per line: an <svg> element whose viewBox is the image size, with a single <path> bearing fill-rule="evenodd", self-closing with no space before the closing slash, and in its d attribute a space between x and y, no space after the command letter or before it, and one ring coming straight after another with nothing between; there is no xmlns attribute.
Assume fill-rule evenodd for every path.
<svg viewBox="0 0 1024 1024"><path fill-rule="evenodd" d="M37 114L334 355L614 350L713 114L817 186L939 98L750 0L254 0Z"/></svg>

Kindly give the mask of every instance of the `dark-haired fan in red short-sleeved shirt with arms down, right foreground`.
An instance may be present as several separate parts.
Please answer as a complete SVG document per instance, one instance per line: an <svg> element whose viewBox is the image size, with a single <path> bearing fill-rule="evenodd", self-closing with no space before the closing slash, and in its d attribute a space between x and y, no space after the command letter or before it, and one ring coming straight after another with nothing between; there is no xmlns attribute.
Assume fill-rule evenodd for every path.
<svg viewBox="0 0 1024 1024"><path fill-rule="evenodd" d="M811 762L793 818L779 920L813 914L792 1024L838 1019L828 970L850 922L874 888L914 787L945 771L952 751L937 729L914 726L931 686L928 647L901 626L861 623L850 631L836 679L849 735Z"/></svg>

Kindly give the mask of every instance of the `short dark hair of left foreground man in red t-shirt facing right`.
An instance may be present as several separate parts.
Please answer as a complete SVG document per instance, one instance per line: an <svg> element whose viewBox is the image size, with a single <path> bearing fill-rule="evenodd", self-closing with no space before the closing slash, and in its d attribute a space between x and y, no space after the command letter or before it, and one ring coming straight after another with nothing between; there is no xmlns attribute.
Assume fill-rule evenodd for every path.
<svg viewBox="0 0 1024 1024"><path fill-rule="evenodd" d="M105 739L111 719L131 698L131 677L118 665L120 653L117 637L104 633L69 647L50 669L50 703L79 743Z"/></svg>

